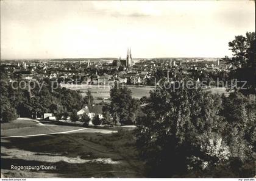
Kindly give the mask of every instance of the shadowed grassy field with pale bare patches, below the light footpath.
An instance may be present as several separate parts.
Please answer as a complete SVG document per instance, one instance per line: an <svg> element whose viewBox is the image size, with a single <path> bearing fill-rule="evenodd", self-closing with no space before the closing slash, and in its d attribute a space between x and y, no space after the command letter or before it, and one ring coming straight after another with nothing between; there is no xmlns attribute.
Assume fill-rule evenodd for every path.
<svg viewBox="0 0 256 181"><path fill-rule="evenodd" d="M13 123L9 122L1 129L4 177L143 177L143 163L138 161L133 131L105 134L105 129L34 124L32 119L16 120L13 124L19 121L27 126L7 129L7 124ZM49 134L63 131L68 133ZM45 135L6 138L38 132ZM12 165L43 165L54 169L15 170Z"/></svg>

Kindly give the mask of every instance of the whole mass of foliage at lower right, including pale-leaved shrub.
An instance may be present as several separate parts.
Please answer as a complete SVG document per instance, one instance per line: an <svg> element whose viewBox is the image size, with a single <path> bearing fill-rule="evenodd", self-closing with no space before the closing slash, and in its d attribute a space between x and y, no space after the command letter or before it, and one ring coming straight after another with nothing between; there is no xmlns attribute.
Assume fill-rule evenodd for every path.
<svg viewBox="0 0 256 181"><path fill-rule="evenodd" d="M231 93L226 98L200 88L160 86L151 91L143 110L137 146L150 177L202 176L210 170L218 176L233 158L242 167L254 160L255 96ZM235 175L233 170L227 171L229 176Z"/></svg>

